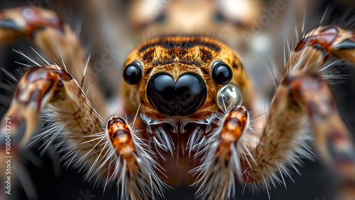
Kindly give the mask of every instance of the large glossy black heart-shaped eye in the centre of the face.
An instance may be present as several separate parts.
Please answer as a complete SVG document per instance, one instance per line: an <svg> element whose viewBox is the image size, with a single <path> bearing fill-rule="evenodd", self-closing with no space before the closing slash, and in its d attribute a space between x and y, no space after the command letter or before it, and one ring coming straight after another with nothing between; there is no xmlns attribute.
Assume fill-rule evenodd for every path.
<svg viewBox="0 0 355 200"><path fill-rule="evenodd" d="M175 82L168 73L158 72L148 81L147 98L162 114L186 116L202 107L207 87L197 73L184 73Z"/></svg>

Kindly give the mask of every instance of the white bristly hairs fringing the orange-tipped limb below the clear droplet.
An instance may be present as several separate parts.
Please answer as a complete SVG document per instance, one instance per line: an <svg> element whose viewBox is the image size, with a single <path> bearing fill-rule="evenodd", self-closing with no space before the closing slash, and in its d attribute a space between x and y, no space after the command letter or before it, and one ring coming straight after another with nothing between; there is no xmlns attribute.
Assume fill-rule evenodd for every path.
<svg viewBox="0 0 355 200"><path fill-rule="evenodd" d="M244 139L251 134L252 129L248 122L241 138L237 143L231 143L230 161L226 163L224 158L217 157L217 148L219 146L219 134L222 131L222 124L228 112L222 112L218 115L218 128L213 130L207 138L205 147L202 148L199 155L203 155L202 163L190 173L196 176L192 186L197 187L197 198L199 199L225 199L226 196L232 197L235 193L236 178L241 178L240 156L244 153ZM249 117L248 117L249 120Z"/></svg>

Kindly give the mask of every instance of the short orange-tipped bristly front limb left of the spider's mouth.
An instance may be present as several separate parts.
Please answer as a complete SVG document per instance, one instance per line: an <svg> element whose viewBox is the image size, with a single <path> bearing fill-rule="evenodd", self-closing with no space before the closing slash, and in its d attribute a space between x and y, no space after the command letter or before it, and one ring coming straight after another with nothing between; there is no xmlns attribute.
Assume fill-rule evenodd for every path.
<svg viewBox="0 0 355 200"><path fill-rule="evenodd" d="M137 131L116 115L108 120L106 131L119 160L114 163L115 170L109 179L119 177L121 199L151 199L155 192L163 197L161 192L165 183L155 174L158 163L149 153L150 147L137 136Z"/></svg>

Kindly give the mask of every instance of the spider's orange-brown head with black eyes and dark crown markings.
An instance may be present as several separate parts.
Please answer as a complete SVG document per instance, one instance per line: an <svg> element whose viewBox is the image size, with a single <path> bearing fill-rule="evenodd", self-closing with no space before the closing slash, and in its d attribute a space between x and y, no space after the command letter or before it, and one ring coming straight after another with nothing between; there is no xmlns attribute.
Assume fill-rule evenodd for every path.
<svg viewBox="0 0 355 200"><path fill-rule="evenodd" d="M123 77L126 108L136 112L141 103L140 112L154 119L208 117L223 108L222 98L231 98L218 94L224 86L229 86L225 93L234 90L244 102L251 97L241 59L208 37L150 40L129 55Z"/></svg>

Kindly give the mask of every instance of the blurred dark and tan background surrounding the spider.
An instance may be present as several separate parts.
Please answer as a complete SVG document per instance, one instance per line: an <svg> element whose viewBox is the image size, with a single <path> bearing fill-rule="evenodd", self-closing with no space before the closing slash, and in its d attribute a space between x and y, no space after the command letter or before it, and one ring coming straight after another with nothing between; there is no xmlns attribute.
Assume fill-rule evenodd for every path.
<svg viewBox="0 0 355 200"><path fill-rule="evenodd" d="M147 3L148 2L148 3ZM114 107L114 100L119 90L119 79L121 66L124 63L124 57L133 49L134 45L141 40L145 40L151 35L159 35L160 33L174 33L174 31L190 31L191 33L200 33L199 28L192 25L189 28L184 18L175 19L174 13L178 13L180 10L177 8L180 4L176 1L147 1L141 3L141 1L57 1L57 0L28 0L28 1L0 1L0 9L13 8L23 5L34 5L43 8L50 8L56 11L61 18L69 23L72 28L77 26L80 28L80 39L84 44L84 48L87 52L91 52L93 55L92 62L99 60L104 47L111 47L119 52L118 57L114 58L112 63L107 64L104 70L99 71L99 83L104 90L104 95L107 97L107 104ZM190 2L190 1L187 1ZM231 44L237 51L243 55L246 52L246 60L250 58L250 52L253 50L251 44L241 44L240 35L238 30L249 28L248 20L250 18L258 19L263 11L261 8L269 8L273 6L275 1L255 1L255 7L251 7L251 12L246 12L250 18L243 18L243 16L228 15L228 9L224 7L224 4L219 4L217 1L205 1L199 3L204 6L195 9L196 16L192 18L198 18L199 15L211 16L212 22L204 21L204 30L202 32L209 32L207 28L209 25L214 30L213 34L223 32L222 39ZM243 3L243 1L236 1L236 3ZM289 1L285 1L286 4ZM148 7L146 7L148 4ZM187 4L186 2L182 5ZM291 6L294 7L294 23L299 25L302 21L303 13L307 13L306 23L311 23L312 19L321 18L324 11L327 11L327 18L335 19L329 20L330 23L344 21L350 22L349 27L355 27L355 1L353 0L316 0L312 2L308 1L290 1ZM149 7L149 6L152 6ZM243 4L240 4L243 5ZM253 5L253 4L252 4ZM289 4L288 4L289 5ZM175 6L175 7L174 7ZM181 6L181 5L180 5ZM216 9L214 9L216 6ZM219 6L217 8L217 6ZM176 9L175 9L176 8ZM307 9L306 9L307 8ZM153 9L153 11L152 11ZM253 12L253 10L256 10ZM147 11L148 10L148 11ZM181 9L184 10L184 9ZM288 9L286 9L288 11ZM275 19L275 23L271 24L271 27L277 27L278 21L282 21L282 16L287 16L287 11L280 13L280 17ZM209 11L209 13L205 13ZM187 11L186 11L187 12ZM201 14L199 13L201 12ZM141 15L141 16L140 16ZM181 14L185 15L185 14ZM192 19L191 18L191 19ZM188 19L188 18L187 18ZM176 28L174 25L186 22L185 29ZM290 25L290 28L294 28L294 25ZM275 31L283 30L285 27L279 25ZM156 31L155 31L156 30ZM206 31L207 30L207 31ZM213 32L212 30L212 32ZM268 30L265 30L266 32ZM286 31L287 32L287 31ZM234 34L235 33L235 34ZM208 35L208 34L207 34ZM217 34L218 35L218 34ZM293 37L290 34L290 37ZM139 38L139 39L137 39ZM143 39L142 39L143 38ZM273 41L273 38L268 37L268 40ZM125 42L129 41L129 42ZM272 43L277 44L277 42ZM274 47L275 45L266 45L266 47ZM0 44L0 66L4 67L8 71L18 68L18 64L13 61L19 61L22 63L28 63L28 60L13 52L11 49L21 49L21 51L31 54L33 44L28 40L21 40L15 42L6 42ZM274 49L275 52L283 49L282 46L279 49ZM33 53L33 52L32 52ZM251 61L249 61L251 63ZM248 61L246 61L248 64ZM246 66L248 66L246 64ZM251 76L260 76L254 70L258 69L258 64L251 64ZM254 68L254 69L253 69ZM344 122L349 127L351 133L355 131L355 75L354 66L351 64L342 62L337 66L337 73L344 75L347 78L341 81L337 80L331 84L332 93L334 99L337 102L339 112L344 119ZM256 78L257 79L257 78ZM269 78L270 79L270 78ZM270 80L265 80L270 81ZM6 76L4 73L0 73L0 82L6 82ZM269 83L269 82L268 82ZM270 90L272 86L268 88L262 88L263 83L256 83L256 86L260 86L259 90L262 90L265 95L272 93ZM267 85L267 84L266 84ZM13 91L12 91L13 92ZM11 91L6 92L1 90L1 94L11 97ZM270 97L268 97L270 98ZM6 111L6 107L9 104L9 99L2 99L0 116ZM113 102L113 103L112 103ZM42 142L36 143L30 148L26 148L26 152L20 155L19 162L23 165L23 168L28 172L28 180L31 182L22 183L24 185L30 185L26 189L23 189L22 184L18 184L18 187L13 189L12 199L28 199L36 196L38 199L117 199L117 192L114 187L106 189L103 194L102 187L93 187L90 182L83 180L83 174L78 172L78 169L62 167L58 156L53 153L53 150L49 150L44 153L43 156L39 156ZM337 177L334 172L329 169L322 160L304 160L302 167L298 167L301 175L297 175L295 171L292 171L293 180L287 178L287 188L283 185L279 185L276 189L271 189L271 199L334 199L334 193L337 191L339 184L337 184ZM23 173L19 176L25 176ZM25 190L27 190L25 192ZM246 189L242 194L243 187L239 186L236 190L235 199L268 199L268 195L263 192L253 194ZM165 193L165 199L194 199L195 190L192 187L182 186L175 189L170 189Z"/></svg>

